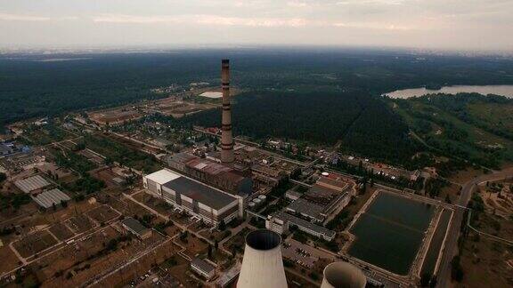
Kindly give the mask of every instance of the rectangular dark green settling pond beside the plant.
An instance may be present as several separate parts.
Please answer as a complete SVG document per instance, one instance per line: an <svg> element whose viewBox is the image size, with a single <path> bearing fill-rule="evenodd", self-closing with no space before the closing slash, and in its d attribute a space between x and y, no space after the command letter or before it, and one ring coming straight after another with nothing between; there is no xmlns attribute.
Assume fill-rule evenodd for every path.
<svg viewBox="0 0 513 288"><path fill-rule="evenodd" d="M407 275L435 206L380 192L351 228L349 254L398 275Z"/></svg>

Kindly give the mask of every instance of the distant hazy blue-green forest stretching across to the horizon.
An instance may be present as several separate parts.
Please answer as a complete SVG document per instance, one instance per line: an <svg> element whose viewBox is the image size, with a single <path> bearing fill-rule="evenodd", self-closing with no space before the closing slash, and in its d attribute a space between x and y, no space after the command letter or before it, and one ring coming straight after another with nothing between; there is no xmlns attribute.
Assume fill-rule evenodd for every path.
<svg viewBox="0 0 513 288"><path fill-rule="evenodd" d="M343 49L177 50L146 53L0 55L0 125L118 105L191 82L218 84L220 59L244 88L354 87L373 94L441 84L511 84L513 60ZM53 60L60 59L60 60ZM64 59L64 60L62 60ZM70 59L70 60L65 60Z"/></svg>

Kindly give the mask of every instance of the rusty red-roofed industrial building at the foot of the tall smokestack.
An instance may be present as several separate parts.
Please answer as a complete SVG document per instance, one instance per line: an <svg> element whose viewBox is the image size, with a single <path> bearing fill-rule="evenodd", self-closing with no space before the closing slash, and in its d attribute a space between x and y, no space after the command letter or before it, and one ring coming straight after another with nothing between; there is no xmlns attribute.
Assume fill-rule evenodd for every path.
<svg viewBox="0 0 513 288"><path fill-rule="evenodd" d="M189 153L178 153L175 156L167 157L166 162L171 168L230 194L248 196L252 192L253 181L251 178L227 165L218 164Z"/></svg>

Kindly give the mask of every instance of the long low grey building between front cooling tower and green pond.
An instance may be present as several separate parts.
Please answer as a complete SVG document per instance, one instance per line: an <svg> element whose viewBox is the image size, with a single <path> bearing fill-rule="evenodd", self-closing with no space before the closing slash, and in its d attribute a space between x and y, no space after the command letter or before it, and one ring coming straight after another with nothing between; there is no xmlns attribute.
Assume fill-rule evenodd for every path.
<svg viewBox="0 0 513 288"><path fill-rule="evenodd" d="M283 224L280 225L280 223ZM273 216L267 217L267 220L265 220L265 227L273 229L276 233L284 233L292 225L297 226L297 229L300 231L322 238L326 241L331 241L336 236L335 231L308 222L307 220L303 220L286 212L277 212Z"/></svg>

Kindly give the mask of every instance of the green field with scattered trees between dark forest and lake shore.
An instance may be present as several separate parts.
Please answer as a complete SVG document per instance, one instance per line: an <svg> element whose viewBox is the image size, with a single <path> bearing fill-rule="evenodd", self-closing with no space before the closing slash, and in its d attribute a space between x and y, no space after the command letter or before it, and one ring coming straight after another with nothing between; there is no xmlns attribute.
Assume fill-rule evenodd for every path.
<svg viewBox="0 0 513 288"><path fill-rule="evenodd" d="M411 130L428 145L470 163L498 167L513 160L511 101L476 94L391 100Z"/></svg>

